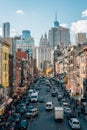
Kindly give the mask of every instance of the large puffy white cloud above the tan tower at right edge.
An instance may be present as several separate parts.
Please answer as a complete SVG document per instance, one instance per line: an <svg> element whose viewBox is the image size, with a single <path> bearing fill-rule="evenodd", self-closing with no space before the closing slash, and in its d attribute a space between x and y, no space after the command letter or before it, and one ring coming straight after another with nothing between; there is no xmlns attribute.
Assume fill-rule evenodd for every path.
<svg viewBox="0 0 87 130"><path fill-rule="evenodd" d="M71 31L75 33L87 33L87 20L73 22L71 25Z"/></svg>

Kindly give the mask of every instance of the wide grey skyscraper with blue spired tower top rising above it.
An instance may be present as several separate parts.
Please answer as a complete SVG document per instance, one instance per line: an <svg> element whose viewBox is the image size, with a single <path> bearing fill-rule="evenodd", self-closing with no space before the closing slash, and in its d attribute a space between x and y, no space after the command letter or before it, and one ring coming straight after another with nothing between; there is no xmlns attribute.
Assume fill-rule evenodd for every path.
<svg viewBox="0 0 87 130"><path fill-rule="evenodd" d="M48 33L49 45L54 49L57 45L67 46L70 43L70 30L59 25L57 16L55 17L54 27Z"/></svg>

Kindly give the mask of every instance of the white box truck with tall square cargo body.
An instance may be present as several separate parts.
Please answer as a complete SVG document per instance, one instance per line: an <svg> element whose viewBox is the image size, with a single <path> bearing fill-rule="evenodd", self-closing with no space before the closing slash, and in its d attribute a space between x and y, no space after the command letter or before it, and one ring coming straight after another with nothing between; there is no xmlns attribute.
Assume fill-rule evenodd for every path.
<svg viewBox="0 0 87 130"><path fill-rule="evenodd" d="M54 108L54 116L55 116L55 120L63 120L63 118L64 118L63 108L62 107L55 107Z"/></svg>

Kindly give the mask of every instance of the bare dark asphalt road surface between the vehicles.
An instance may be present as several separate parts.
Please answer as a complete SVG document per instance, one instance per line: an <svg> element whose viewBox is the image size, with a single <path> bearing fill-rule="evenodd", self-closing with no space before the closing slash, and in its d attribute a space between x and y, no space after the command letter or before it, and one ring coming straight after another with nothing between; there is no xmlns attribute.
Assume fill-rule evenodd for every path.
<svg viewBox="0 0 87 130"><path fill-rule="evenodd" d="M39 108L38 117L34 117L29 120L27 130L71 130L68 125L68 121L66 117L62 122L56 122L54 120L54 111L45 111L45 104L47 101L52 101L54 106L59 106L59 102L57 97L52 97L51 92L46 92L46 85L40 83L41 90L39 93L39 97L45 97L45 103L33 103L35 107ZM81 123L81 129L87 130L87 122L84 122L83 119L79 119ZM84 124L84 125L83 125Z"/></svg>

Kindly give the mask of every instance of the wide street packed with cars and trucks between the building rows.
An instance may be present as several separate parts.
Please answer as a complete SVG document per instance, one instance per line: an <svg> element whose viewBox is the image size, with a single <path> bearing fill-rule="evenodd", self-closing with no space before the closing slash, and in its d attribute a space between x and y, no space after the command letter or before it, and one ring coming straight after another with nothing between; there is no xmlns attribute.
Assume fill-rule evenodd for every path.
<svg viewBox="0 0 87 130"><path fill-rule="evenodd" d="M0 130L87 130L87 120L61 85L53 78L40 78L12 102L0 117Z"/></svg>

